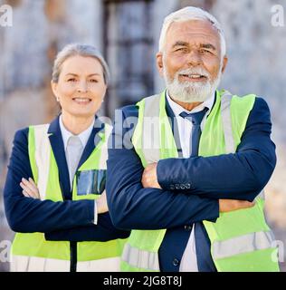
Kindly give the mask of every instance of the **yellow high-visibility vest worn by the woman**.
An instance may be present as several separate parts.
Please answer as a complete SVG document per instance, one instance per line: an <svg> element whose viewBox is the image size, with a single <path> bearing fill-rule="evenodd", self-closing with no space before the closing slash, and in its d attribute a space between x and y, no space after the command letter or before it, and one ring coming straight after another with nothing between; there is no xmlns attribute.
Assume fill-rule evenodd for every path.
<svg viewBox="0 0 286 290"><path fill-rule="evenodd" d="M49 140L49 124L29 127L28 150L33 179L41 199L63 201L59 169ZM108 137L112 128L105 124L100 142L91 156L77 170L72 186L72 200L96 199L105 188L102 179L108 158ZM101 175L101 177L100 177ZM105 176L105 175L104 175ZM97 181L101 181L98 184ZM96 188L101 188L100 190ZM95 194L97 193L97 194ZM119 271L119 256L126 239L107 242L78 242L76 270ZM16 233L12 245L11 271L68 272L71 249L68 241L47 241L43 233Z"/></svg>

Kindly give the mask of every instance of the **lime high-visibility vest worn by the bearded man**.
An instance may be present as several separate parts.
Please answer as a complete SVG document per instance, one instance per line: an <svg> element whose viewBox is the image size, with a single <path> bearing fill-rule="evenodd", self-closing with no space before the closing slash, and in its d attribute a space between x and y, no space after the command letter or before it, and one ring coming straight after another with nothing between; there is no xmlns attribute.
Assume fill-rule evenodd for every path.
<svg viewBox="0 0 286 290"><path fill-rule="evenodd" d="M225 91L216 92L198 155L234 153L254 102L255 95L238 97ZM144 167L158 160L178 158L165 106L165 92L138 102L138 124L132 143ZM261 193L253 208L220 213L215 223L203 221L217 271L279 271L278 251L265 222L263 206ZM158 249L165 233L166 229L132 230L121 257L121 270L159 271Z"/></svg>

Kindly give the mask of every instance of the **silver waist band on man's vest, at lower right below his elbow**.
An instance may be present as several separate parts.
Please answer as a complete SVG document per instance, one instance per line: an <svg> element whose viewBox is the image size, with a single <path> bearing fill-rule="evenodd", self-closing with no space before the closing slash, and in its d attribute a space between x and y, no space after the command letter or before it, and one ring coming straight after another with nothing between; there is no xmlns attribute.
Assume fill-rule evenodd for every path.
<svg viewBox="0 0 286 290"><path fill-rule="evenodd" d="M222 242L215 242L213 258L222 259L229 256L240 255L257 250L275 247L272 231L257 232L234 237Z"/></svg>

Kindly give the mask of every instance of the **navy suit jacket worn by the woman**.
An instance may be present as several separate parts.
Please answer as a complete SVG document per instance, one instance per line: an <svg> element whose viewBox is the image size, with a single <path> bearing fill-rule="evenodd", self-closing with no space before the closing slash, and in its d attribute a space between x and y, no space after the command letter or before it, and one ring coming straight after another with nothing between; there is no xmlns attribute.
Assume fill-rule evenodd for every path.
<svg viewBox="0 0 286 290"><path fill-rule="evenodd" d="M83 150L79 167L89 158L98 140L97 133L102 130L99 119L97 126ZM113 227L110 214L100 214L98 224L93 224L94 200L71 200L69 170L65 159L62 133L59 118L52 121L49 127L52 151L59 168L62 187L62 202L25 198L20 182L22 178L33 178L28 155L28 128L17 131L14 136L14 147L5 181L4 200L5 215L9 226L15 232L45 233L47 240L63 240L71 242L107 241L119 237L128 237L128 231Z"/></svg>

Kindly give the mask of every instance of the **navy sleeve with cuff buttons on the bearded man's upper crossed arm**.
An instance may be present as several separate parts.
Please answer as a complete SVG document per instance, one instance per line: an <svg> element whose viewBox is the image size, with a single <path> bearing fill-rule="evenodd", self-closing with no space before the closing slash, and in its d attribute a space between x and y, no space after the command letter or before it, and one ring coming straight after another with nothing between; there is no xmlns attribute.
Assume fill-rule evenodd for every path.
<svg viewBox="0 0 286 290"><path fill-rule="evenodd" d="M234 154L160 160L157 179L162 189L207 198L253 200L265 187L276 164L267 103L256 98L242 140ZM184 186L183 186L184 188ZM185 187L186 188L186 187Z"/></svg>

